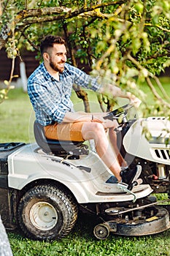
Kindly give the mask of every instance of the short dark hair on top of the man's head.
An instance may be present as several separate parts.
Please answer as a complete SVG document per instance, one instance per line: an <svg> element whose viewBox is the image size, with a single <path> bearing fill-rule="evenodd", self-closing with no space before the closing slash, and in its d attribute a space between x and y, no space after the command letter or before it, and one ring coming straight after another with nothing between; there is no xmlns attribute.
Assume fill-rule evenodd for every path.
<svg viewBox="0 0 170 256"><path fill-rule="evenodd" d="M45 53L47 51L47 48L52 48L53 44L58 44L58 45L65 45L65 40L62 37L58 36L47 36L41 41L40 45L40 51L41 53Z"/></svg>

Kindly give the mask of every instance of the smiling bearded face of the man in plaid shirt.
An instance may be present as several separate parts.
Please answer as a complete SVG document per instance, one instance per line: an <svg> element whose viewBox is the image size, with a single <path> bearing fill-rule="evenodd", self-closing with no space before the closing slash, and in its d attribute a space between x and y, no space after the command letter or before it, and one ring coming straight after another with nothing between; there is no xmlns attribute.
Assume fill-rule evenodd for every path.
<svg viewBox="0 0 170 256"><path fill-rule="evenodd" d="M57 71L63 72L64 64L66 62L66 47L65 45L54 44L53 48L49 50L49 64L50 67Z"/></svg>

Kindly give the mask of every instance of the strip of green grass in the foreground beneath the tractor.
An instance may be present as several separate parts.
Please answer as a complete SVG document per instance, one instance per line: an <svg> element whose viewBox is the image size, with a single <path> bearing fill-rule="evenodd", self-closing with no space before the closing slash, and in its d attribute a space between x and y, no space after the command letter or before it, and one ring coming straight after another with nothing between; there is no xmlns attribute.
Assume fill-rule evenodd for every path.
<svg viewBox="0 0 170 256"><path fill-rule="evenodd" d="M13 255L17 256L155 256L170 255L170 232L142 237L111 234L105 241L93 237L92 228L79 220L62 241L41 242L8 233Z"/></svg>

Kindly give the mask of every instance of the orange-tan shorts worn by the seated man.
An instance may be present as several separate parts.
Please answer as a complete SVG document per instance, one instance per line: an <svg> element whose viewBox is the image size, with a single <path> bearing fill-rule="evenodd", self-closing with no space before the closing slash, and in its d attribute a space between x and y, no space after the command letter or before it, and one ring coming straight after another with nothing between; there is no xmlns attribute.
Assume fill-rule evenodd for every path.
<svg viewBox="0 0 170 256"><path fill-rule="evenodd" d="M84 122L61 124L55 123L47 125L44 127L45 137L50 140L83 141L82 124L84 124Z"/></svg>

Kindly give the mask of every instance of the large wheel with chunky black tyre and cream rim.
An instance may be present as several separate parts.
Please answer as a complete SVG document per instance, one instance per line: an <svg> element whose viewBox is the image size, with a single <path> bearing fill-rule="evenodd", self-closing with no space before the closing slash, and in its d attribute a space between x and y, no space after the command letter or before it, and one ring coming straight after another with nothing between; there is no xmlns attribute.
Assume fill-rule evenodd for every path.
<svg viewBox="0 0 170 256"><path fill-rule="evenodd" d="M52 240L68 235L77 221L77 204L63 189L39 185L20 200L18 223L28 238Z"/></svg>

